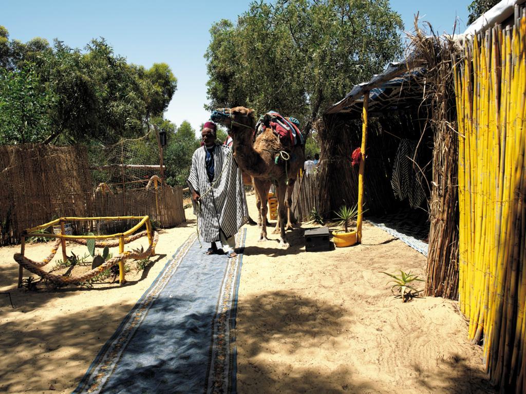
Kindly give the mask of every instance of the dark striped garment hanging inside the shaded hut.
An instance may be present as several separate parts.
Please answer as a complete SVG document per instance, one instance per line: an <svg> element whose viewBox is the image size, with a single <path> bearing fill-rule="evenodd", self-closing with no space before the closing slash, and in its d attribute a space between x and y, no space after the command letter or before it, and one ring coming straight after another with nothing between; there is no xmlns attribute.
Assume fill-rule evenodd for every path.
<svg viewBox="0 0 526 394"><path fill-rule="evenodd" d="M395 196L401 201L407 198L411 208L418 208L426 198L422 187L422 174L412 159L416 148L416 141L405 138L400 140L391 178Z"/></svg>

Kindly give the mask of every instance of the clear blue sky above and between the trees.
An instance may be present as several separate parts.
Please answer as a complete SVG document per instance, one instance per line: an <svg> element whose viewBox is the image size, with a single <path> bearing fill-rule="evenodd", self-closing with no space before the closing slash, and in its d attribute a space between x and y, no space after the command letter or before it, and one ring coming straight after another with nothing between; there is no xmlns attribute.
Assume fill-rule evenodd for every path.
<svg viewBox="0 0 526 394"><path fill-rule="evenodd" d="M115 52L128 62L150 67L167 63L178 79L177 92L165 114L180 125L188 120L194 128L208 119L206 63L203 57L210 35L208 29L221 18L235 20L248 9L248 0L167 1L90 0L0 1L0 25L12 39L26 42L33 37L50 43L60 39L71 47L83 48L92 38L104 37ZM406 30L413 27L414 14L429 21L435 31L463 32L471 0L391 0L391 8L403 19ZM357 81L361 82L361 81Z"/></svg>

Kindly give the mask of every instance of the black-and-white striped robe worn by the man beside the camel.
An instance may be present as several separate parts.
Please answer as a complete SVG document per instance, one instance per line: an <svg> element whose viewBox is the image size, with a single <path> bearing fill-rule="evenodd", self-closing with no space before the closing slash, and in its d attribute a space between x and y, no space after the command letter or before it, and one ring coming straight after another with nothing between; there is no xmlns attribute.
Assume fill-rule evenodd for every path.
<svg viewBox="0 0 526 394"><path fill-rule="evenodd" d="M229 238L247 222L248 210L241 170L232 148L216 145L213 151L215 173L210 182L206 171L206 148L201 146L192 156L188 184L199 198L194 203L199 234L206 242L219 241L219 232Z"/></svg>

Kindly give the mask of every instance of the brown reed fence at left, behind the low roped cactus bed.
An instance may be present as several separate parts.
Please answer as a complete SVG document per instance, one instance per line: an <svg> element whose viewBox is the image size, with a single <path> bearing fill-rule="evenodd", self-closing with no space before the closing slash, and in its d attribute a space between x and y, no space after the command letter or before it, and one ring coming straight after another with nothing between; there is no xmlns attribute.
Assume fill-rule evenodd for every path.
<svg viewBox="0 0 526 394"><path fill-rule="evenodd" d="M0 245L18 243L20 231L56 217L148 215L161 227L185 221L181 187L93 189L83 146L0 146ZM91 227L82 226L75 229Z"/></svg>

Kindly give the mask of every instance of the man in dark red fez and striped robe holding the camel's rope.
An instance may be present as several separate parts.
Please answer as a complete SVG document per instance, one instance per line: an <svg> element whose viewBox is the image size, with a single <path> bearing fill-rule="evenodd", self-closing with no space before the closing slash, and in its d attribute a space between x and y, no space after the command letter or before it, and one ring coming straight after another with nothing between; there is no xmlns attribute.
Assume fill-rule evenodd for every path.
<svg viewBox="0 0 526 394"><path fill-rule="evenodd" d="M247 221L248 210L241 170L232 148L216 144L216 125L205 123L203 146L196 149L188 177L201 237L217 252L216 241L228 257L235 257L235 235Z"/></svg>

